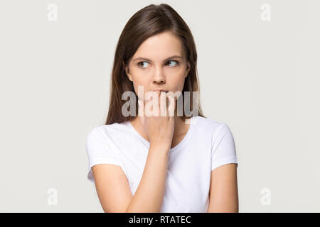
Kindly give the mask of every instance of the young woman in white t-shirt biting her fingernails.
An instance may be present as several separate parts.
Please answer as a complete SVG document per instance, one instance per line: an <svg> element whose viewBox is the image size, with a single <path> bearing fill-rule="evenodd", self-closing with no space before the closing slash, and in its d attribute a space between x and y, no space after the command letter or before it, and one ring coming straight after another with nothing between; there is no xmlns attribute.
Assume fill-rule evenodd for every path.
<svg viewBox="0 0 320 227"><path fill-rule="evenodd" d="M233 134L203 116L196 62L191 31L171 6L151 4L127 22L115 51L107 122L86 142L87 178L105 212L238 212ZM134 94L129 116L125 92ZM155 96L146 99L147 92ZM151 100L150 110L159 109L150 116ZM191 116L185 108L178 114L178 100ZM166 115L157 115L161 109Z"/></svg>

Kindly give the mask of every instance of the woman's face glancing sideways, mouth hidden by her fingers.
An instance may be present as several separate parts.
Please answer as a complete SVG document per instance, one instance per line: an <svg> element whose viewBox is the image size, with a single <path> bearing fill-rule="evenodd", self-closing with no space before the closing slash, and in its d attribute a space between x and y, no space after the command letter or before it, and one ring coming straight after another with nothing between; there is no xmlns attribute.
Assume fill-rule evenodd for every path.
<svg viewBox="0 0 320 227"><path fill-rule="evenodd" d="M142 97L138 86L143 87L144 94L154 89L182 92L189 70L190 63L186 61L181 40L169 31L145 40L129 60L129 68L126 67L139 99Z"/></svg>

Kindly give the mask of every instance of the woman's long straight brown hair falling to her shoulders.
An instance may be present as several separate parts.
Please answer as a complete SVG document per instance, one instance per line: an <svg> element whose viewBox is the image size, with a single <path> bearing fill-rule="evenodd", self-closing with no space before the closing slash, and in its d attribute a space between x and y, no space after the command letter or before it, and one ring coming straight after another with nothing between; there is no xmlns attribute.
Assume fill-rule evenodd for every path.
<svg viewBox="0 0 320 227"><path fill-rule="evenodd" d="M168 4L151 4L140 9L129 18L119 37L112 66L110 105L105 124L131 121L135 116L138 116L137 108L135 116L132 116L133 114L123 116L122 114L122 106L127 102L126 100L122 100L124 92L134 92L136 96L135 106L138 106L138 96L134 91L133 83L127 77L125 67L129 64L129 60L144 40L164 31L171 31L181 39L187 61L190 62L190 71L185 79L181 96L183 96L184 92L189 92L190 100L188 101L190 102L190 110L193 111L193 92L200 92L196 66L197 52L193 35L181 16L171 6ZM198 116L205 117L203 116L199 100L200 95L197 101ZM181 117L184 119L191 118L191 116L185 115L184 108L183 116Z"/></svg>

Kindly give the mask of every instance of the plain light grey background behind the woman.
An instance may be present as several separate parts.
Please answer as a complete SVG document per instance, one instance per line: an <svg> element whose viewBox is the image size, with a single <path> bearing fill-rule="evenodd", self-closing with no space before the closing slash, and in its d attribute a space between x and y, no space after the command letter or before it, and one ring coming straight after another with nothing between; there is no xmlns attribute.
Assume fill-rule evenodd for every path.
<svg viewBox="0 0 320 227"><path fill-rule="evenodd" d="M103 212L85 139L105 122L125 23L160 3L195 38L205 116L233 131L239 211L319 212L320 2L289 0L0 1L0 211Z"/></svg>

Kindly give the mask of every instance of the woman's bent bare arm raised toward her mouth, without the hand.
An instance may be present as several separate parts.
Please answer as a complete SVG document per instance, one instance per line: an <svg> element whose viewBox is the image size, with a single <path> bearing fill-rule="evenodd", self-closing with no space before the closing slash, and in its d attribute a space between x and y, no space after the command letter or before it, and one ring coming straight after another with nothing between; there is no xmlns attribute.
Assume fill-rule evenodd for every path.
<svg viewBox="0 0 320 227"><path fill-rule="evenodd" d="M159 213L164 199L169 147L166 143L150 144L142 179L134 196L121 167L94 165L92 172L102 209L106 213Z"/></svg>

